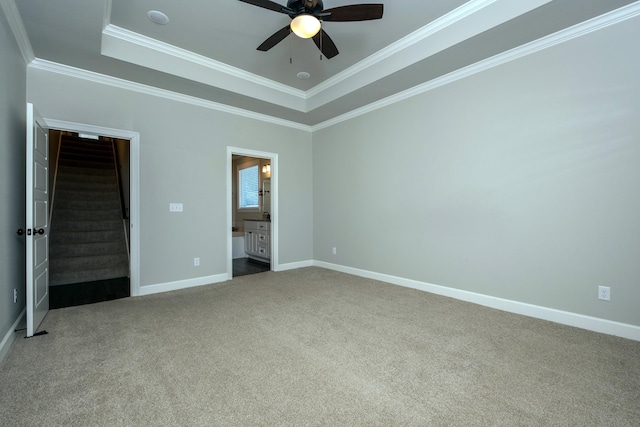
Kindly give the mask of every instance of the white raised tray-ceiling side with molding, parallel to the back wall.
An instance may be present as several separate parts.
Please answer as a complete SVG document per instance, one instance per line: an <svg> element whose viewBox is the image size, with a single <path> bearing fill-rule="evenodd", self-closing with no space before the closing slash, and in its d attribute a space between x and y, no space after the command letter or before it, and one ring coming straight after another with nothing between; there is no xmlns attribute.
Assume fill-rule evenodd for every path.
<svg viewBox="0 0 640 427"><path fill-rule="evenodd" d="M105 27L102 36L103 55L305 111L306 95L302 90L112 24ZM140 55L140 48L147 54ZM156 56L149 55L149 51ZM206 72L202 73L202 69Z"/></svg>

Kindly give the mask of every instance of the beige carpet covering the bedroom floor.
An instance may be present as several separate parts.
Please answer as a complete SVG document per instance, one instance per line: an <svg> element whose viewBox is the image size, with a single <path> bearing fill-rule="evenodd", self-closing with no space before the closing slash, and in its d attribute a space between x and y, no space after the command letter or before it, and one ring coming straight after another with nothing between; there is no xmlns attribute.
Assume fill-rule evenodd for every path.
<svg viewBox="0 0 640 427"><path fill-rule="evenodd" d="M640 342L320 268L51 311L2 425L640 425Z"/></svg>

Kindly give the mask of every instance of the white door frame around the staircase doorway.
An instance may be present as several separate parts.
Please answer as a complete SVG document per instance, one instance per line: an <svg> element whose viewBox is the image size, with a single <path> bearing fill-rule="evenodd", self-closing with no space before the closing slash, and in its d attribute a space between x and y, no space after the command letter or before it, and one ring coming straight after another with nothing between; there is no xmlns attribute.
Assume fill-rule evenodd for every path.
<svg viewBox="0 0 640 427"><path fill-rule="evenodd" d="M129 269L131 296L140 295L140 134L122 129L44 118L49 129L129 140Z"/></svg>

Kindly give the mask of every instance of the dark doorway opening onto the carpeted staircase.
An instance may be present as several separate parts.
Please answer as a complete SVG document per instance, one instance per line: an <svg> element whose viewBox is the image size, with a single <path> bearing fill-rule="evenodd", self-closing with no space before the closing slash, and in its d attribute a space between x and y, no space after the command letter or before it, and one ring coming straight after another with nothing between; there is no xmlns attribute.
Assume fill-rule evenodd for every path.
<svg viewBox="0 0 640 427"><path fill-rule="evenodd" d="M129 141L49 130L49 308L125 298Z"/></svg>

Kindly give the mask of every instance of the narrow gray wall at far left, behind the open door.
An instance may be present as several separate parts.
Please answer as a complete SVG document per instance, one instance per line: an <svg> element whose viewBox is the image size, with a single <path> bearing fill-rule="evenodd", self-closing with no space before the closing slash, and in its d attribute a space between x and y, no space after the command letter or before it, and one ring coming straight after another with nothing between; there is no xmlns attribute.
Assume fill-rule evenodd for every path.
<svg viewBox="0 0 640 427"><path fill-rule="evenodd" d="M0 13L0 341L25 307L26 67ZM13 303L13 289L18 303ZM0 360L2 359L0 349Z"/></svg>

